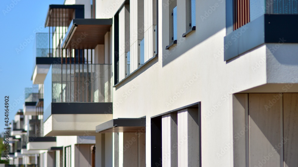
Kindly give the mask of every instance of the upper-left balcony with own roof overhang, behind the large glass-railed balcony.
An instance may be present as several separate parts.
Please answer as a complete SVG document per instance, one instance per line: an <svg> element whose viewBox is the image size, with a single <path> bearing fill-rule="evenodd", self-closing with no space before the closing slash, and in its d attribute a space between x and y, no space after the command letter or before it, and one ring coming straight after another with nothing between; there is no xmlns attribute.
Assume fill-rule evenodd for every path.
<svg viewBox="0 0 298 167"><path fill-rule="evenodd" d="M43 84L50 64L71 62L61 43L72 19L84 18L84 5L49 5L45 27L49 33L36 33L36 59L32 74L33 84ZM68 59L68 61L67 61Z"/></svg>

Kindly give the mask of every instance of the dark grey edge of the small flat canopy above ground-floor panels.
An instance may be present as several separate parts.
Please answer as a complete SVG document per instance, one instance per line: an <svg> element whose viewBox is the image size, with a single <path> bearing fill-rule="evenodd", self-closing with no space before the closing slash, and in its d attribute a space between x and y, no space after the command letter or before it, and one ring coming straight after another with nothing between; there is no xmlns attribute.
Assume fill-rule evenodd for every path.
<svg viewBox="0 0 298 167"><path fill-rule="evenodd" d="M112 119L96 126L96 132L103 132L114 127L146 127L146 119L142 118L122 118Z"/></svg>

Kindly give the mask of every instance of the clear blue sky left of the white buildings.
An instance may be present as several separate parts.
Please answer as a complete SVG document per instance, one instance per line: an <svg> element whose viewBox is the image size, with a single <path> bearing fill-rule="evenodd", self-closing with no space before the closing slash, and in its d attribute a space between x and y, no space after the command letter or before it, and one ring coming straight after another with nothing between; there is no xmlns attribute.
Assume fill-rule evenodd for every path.
<svg viewBox="0 0 298 167"><path fill-rule="evenodd" d="M9 96L10 99L9 118L12 121L18 109L23 108L24 89L32 86L35 33L48 32L44 21L49 4L63 2L64 0L0 1L0 132L5 127L4 96Z"/></svg>

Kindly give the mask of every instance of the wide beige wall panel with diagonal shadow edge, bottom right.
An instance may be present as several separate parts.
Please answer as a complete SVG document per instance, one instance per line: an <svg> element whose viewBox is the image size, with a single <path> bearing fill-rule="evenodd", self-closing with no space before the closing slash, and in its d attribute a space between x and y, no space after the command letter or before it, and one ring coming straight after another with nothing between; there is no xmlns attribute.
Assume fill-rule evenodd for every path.
<svg viewBox="0 0 298 167"><path fill-rule="evenodd" d="M249 94L250 166L280 167L283 161L283 99L268 104L275 97L279 94Z"/></svg>

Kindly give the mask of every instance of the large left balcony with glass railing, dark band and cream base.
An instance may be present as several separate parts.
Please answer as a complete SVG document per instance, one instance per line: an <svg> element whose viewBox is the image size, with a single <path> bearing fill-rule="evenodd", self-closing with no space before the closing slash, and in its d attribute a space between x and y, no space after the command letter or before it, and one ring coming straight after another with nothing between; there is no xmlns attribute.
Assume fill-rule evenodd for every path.
<svg viewBox="0 0 298 167"><path fill-rule="evenodd" d="M52 64L44 88L45 136L95 134L112 119L111 64Z"/></svg>

